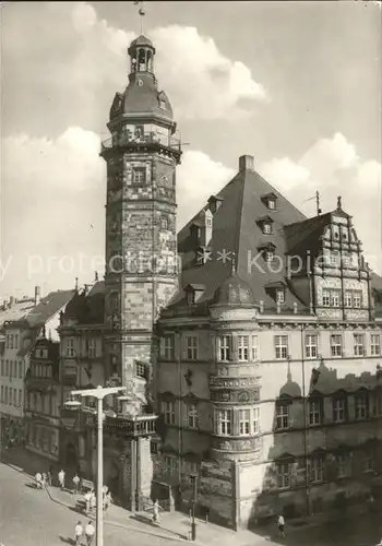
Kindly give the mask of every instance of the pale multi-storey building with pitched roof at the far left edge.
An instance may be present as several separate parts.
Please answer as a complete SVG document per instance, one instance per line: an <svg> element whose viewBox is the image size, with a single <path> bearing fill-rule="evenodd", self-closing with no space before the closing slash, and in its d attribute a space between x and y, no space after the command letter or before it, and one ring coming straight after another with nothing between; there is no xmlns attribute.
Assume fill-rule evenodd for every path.
<svg viewBox="0 0 382 546"><path fill-rule="evenodd" d="M59 312L74 290L58 290L40 299L36 286L35 298L10 300L0 311L3 333L1 355L1 419L5 441L25 439L25 375L29 368L31 352L43 329L49 337L58 340Z"/></svg>

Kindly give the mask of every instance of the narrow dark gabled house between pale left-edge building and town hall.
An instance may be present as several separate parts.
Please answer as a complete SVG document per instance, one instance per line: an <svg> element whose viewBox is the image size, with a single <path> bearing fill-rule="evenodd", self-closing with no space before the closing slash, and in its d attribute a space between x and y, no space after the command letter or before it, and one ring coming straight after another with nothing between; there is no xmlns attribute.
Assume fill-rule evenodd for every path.
<svg viewBox="0 0 382 546"><path fill-rule="evenodd" d="M36 341L25 377L26 449L58 461L61 404L59 342L47 340L45 329Z"/></svg>

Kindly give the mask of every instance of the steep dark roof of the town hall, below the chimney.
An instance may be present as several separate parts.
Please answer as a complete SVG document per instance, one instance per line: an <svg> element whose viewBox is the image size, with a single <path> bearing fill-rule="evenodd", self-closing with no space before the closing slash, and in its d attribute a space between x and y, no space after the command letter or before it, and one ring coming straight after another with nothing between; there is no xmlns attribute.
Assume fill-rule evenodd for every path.
<svg viewBox="0 0 382 546"><path fill-rule="evenodd" d="M266 205L266 195L272 194L276 199L276 209L270 210ZM192 224L200 224L204 207L196 214L178 234L178 251L182 258L182 287L188 284L203 284L205 292L199 302L213 299L215 292L231 273L231 261L224 259L222 253L231 257L235 252L237 262L237 274L247 283L254 300L264 301L264 308L275 308L274 299L268 295L266 286L271 283L279 283L286 286L285 280L285 254L287 240L284 234L286 225L306 221L306 216L299 212L282 193L262 178L255 170L241 169L234 179L223 188L216 195L220 200L220 206L213 214L213 232L208 247L212 259L205 264L196 264L196 245L191 233ZM273 221L272 235L264 235L259 225L264 216ZM260 252L263 245L274 245L274 253L279 257L283 266L279 272L273 272L259 257L256 263L251 268L249 262ZM278 266L278 260L276 265ZM171 301L171 306L183 302L184 295L179 292ZM286 290L285 307L293 308L305 305L290 292Z"/></svg>

